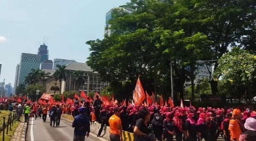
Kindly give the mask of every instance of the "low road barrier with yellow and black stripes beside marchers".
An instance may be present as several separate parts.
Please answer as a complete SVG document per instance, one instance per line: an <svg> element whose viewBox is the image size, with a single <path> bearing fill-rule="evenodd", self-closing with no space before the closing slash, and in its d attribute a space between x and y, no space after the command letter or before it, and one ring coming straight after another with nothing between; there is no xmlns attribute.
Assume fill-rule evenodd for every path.
<svg viewBox="0 0 256 141"><path fill-rule="evenodd" d="M62 114L61 118L70 123L74 121L74 117L72 115ZM99 129L100 129L99 123L91 122L90 130L92 133L98 134ZM101 133L101 136L107 140L109 140L109 130L110 128L105 125L103 128L103 133ZM123 131L123 141L133 141L133 133Z"/></svg>

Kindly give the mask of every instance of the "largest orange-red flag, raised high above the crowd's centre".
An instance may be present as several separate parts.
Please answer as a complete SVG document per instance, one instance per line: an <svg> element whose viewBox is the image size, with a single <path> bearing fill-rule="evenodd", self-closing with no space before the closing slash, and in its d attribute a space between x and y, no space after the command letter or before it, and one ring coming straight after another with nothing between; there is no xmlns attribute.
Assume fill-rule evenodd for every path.
<svg viewBox="0 0 256 141"><path fill-rule="evenodd" d="M141 85L140 76L139 76L134 89L134 94L133 94L134 104L140 105L144 101L144 99L145 99L145 93Z"/></svg>

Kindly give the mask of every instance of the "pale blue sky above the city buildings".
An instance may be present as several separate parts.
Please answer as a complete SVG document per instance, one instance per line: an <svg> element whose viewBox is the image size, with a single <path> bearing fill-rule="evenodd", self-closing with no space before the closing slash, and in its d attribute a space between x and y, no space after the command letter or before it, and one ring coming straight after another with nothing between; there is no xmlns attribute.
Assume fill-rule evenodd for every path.
<svg viewBox="0 0 256 141"><path fill-rule="evenodd" d="M21 53L37 54L44 37L49 60L86 62L85 42L102 39L106 13L129 1L0 0L0 82L14 86Z"/></svg>

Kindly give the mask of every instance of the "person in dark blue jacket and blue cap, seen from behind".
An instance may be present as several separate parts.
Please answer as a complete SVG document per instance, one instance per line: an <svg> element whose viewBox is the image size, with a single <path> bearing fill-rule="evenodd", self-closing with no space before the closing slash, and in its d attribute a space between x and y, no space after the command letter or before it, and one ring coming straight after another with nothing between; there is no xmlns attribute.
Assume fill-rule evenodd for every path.
<svg viewBox="0 0 256 141"><path fill-rule="evenodd" d="M90 133L90 121L86 115L86 109L80 107L79 113L79 115L75 116L72 123L72 127L75 128L73 141L85 141L85 136L89 137Z"/></svg>

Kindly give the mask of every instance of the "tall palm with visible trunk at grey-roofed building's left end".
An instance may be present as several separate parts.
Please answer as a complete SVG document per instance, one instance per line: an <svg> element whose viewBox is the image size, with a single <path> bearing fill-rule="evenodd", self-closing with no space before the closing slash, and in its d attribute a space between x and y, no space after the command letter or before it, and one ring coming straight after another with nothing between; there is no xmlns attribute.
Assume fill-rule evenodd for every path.
<svg viewBox="0 0 256 141"><path fill-rule="evenodd" d="M56 65L56 67L58 68L55 72L54 72L54 78L56 81L59 80L60 84L59 84L59 88L61 91L61 86L62 86L62 80L66 80L66 74L68 73L68 70L66 70L66 65ZM59 91L59 94L60 94Z"/></svg>

